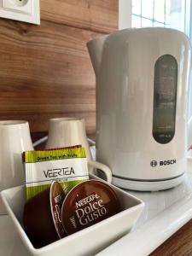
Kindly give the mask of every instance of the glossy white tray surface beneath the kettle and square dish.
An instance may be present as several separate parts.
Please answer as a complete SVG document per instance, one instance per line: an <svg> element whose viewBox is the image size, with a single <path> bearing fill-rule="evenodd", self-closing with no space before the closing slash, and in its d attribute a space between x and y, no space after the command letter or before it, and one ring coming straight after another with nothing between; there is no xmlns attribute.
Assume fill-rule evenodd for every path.
<svg viewBox="0 0 192 256"><path fill-rule="evenodd" d="M192 160L184 182L176 188L131 194L146 204L137 225L98 256L148 255L192 218ZM0 216L0 230L0 256L28 256L9 216Z"/></svg>

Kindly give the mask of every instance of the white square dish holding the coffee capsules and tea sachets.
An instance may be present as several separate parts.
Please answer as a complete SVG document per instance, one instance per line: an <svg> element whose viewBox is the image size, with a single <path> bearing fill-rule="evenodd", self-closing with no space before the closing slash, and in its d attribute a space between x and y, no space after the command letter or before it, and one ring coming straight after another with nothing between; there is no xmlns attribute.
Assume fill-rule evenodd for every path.
<svg viewBox="0 0 192 256"><path fill-rule="evenodd" d="M91 178L96 178L91 176ZM2 191L3 203L13 221L13 230L17 230L21 241L29 255L60 256L60 255L94 255L104 247L118 240L131 230L143 211L143 201L112 185L119 196L122 212L81 230L71 236L55 241L48 246L36 248L26 236L22 227L22 212L25 204L25 188L23 186ZM39 218L41 218L39 216ZM26 256L26 255L25 255Z"/></svg>

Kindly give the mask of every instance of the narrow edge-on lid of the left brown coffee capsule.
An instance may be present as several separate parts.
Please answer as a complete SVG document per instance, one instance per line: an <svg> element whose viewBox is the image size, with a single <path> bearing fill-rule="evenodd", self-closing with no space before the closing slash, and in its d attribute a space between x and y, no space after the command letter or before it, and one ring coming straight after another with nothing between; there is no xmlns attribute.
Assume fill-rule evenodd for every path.
<svg viewBox="0 0 192 256"><path fill-rule="evenodd" d="M50 210L55 224L55 230L60 238L66 236L66 232L63 229L61 222L61 207L64 198L65 194L61 187L61 184L58 182L51 183L49 193Z"/></svg>

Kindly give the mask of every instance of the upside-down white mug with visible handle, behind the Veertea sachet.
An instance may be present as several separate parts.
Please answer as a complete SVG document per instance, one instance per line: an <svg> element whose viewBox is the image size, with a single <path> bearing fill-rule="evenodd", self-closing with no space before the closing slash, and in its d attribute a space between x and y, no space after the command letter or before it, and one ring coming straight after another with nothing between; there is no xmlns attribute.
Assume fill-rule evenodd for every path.
<svg viewBox="0 0 192 256"><path fill-rule="evenodd" d="M89 172L94 168L100 169L107 177L108 183L112 182L112 172L108 166L92 160L90 146L87 142L84 119L57 118L49 120L49 136L45 148L62 148L82 145L86 148Z"/></svg>

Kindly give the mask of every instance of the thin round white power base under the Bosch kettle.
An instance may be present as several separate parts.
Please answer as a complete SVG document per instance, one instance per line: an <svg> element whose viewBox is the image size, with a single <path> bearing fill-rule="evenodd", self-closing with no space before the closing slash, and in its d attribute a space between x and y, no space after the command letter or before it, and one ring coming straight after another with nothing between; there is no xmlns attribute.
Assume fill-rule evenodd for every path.
<svg viewBox="0 0 192 256"><path fill-rule="evenodd" d="M178 177L173 177L166 180L155 181L139 181L130 180L122 177L113 177L113 185L122 188L136 191L159 191L165 189L171 189L182 183L184 179L184 173Z"/></svg>

